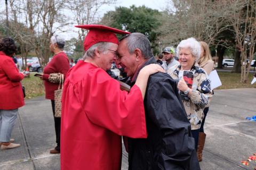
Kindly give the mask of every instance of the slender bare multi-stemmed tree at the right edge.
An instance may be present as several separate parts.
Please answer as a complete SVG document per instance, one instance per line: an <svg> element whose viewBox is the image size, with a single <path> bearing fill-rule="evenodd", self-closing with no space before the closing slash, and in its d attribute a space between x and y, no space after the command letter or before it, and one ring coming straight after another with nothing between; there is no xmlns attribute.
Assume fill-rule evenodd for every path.
<svg viewBox="0 0 256 170"><path fill-rule="evenodd" d="M237 47L241 52L241 82L246 83L256 44L256 1L227 1L226 5L230 11L228 19L233 25Z"/></svg>

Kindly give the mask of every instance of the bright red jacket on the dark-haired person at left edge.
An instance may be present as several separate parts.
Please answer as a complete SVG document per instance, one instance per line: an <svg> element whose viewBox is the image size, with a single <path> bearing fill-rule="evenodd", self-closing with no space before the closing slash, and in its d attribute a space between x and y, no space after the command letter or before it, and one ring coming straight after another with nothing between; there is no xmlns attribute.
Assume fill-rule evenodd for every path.
<svg viewBox="0 0 256 170"><path fill-rule="evenodd" d="M24 105L20 83L23 78L12 57L0 51L0 109L12 110Z"/></svg>

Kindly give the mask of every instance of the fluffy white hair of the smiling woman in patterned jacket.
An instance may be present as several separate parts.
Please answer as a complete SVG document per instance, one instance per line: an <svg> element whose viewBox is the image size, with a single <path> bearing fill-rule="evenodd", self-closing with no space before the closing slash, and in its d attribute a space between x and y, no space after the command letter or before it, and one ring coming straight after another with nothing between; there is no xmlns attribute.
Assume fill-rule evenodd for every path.
<svg viewBox="0 0 256 170"><path fill-rule="evenodd" d="M177 47L177 54L180 54L180 48L189 48L191 50L192 55L196 58L196 62L200 58L201 53L201 45L200 43L193 37L180 41L180 44Z"/></svg>

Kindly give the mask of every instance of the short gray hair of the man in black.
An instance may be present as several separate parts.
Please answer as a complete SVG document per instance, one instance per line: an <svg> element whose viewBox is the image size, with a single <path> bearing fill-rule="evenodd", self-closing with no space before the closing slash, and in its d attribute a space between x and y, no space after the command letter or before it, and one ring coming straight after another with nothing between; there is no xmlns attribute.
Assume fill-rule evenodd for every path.
<svg viewBox="0 0 256 170"><path fill-rule="evenodd" d="M134 52L135 48L139 48L141 50L143 57L145 58L153 57L150 42L148 38L142 33L139 33L139 32L131 33L130 35L127 35L121 38L120 41L124 39L127 42L127 47L130 54Z"/></svg>

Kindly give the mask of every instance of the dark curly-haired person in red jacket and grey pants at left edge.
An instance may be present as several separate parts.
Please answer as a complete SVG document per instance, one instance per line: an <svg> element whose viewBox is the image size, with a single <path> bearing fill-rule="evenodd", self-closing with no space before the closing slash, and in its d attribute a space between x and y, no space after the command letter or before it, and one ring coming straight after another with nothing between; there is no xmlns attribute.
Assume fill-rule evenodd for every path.
<svg viewBox="0 0 256 170"><path fill-rule="evenodd" d="M0 43L0 145L1 149L17 148L20 144L12 143L11 133L18 108L24 105L20 73L12 56L17 47L12 38L4 38Z"/></svg>

